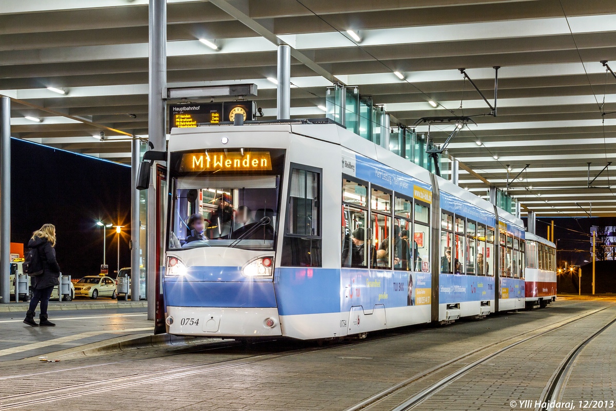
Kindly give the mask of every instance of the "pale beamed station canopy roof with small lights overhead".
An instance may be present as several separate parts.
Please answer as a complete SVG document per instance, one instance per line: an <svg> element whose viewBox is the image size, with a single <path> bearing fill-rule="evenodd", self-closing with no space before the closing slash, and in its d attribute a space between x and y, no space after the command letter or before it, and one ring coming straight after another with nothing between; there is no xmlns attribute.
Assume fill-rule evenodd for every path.
<svg viewBox="0 0 616 411"><path fill-rule="evenodd" d="M474 116L448 153L490 184L505 189L507 166L511 178L530 164L509 194L539 216L586 216L590 203L593 216L616 215L616 78L601 63L616 69L614 0L168 0L167 15L170 87L255 83L263 119L275 118L267 78L286 43L292 118L323 117L334 82L407 126ZM458 69L493 104L495 66L497 115L481 116L490 109ZM147 92L147 1L0 4L12 136L129 163L126 135L148 134ZM433 124L431 137L451 129ZM485 195L463 170L460 185Z"/></svg>

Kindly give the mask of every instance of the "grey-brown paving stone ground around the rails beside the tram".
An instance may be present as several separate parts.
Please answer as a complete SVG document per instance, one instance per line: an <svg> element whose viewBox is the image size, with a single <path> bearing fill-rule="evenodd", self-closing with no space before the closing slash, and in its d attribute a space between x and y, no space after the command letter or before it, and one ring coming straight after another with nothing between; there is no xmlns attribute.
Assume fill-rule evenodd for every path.
<svg viewBox="0 0 616 411"><path fill-rule="evenodd" d="M344 410L465 352L615 302L609 298L562 299L548 309L461 321L447 327L408 327L323 347L274 341L249 348L176 347L58 363L0 363L0 409L36 398L46 402L15 409ZM520 398L525 390L540 391L553 372L550 367L560 361L556 354L591 332L599 317L613 318L615 311L607 309L589 317L596 317L593 321L580 320L575 326L550 333L553 336L548 340L537 338L534 343L529 341L503 353L455 381L452 390L437 394L416 409L505 409L505 398ZM456 367L472 358L461 360ZM195 367L177 370L187 366ZM152 372L159 373L143 375ZM408 392L417 392L447 373L419 381ZM93 386L46 394L51 389L97 381L100 383ZM43 394L6 399L34 390L43 390ZM47 401L49 398L53 401Z"/></svg>

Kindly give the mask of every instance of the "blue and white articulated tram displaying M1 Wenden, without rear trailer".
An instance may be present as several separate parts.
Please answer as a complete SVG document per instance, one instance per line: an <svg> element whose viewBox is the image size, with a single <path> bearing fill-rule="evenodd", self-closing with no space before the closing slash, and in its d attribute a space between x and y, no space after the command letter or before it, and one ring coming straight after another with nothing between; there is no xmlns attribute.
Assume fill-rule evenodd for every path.
<svg viewBox="0 0 616 411"><path fill-rule="evenodd" d="M168 173L171 334L337 338L524 307L520 219L335 124L174 129Z"/></svg>

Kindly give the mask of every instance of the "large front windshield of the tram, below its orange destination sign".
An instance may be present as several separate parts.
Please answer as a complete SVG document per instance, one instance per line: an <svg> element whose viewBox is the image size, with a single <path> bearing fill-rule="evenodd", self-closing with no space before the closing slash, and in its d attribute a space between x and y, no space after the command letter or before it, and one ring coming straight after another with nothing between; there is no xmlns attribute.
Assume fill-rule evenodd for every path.
<svg viewBox="0 0 616 411"><path fill-rule="evenodd" d="M237 156L227 153L227 157L235 161L240 153ZM254 175L245 170L238 173L219 167L214 173L208 170L182 173L187 171L181 169L182 164L186 165L187 161L176 161L180 173L172 176L169 250L200 247L274 250L280 189L277 170L259 170ZM205 167L208 161L203 164Z"/></svg>

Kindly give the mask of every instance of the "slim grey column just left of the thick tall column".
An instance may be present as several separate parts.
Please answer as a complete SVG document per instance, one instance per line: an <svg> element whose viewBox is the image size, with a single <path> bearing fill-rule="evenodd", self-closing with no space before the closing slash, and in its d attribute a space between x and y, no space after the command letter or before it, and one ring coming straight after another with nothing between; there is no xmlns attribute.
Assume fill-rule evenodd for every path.
<svg viewBox="0 0 616 411"><path fill-rule="evenodd" d="M139 234L141 229L139 190L137 186L137 174L139 174L141 142L132 140L131 149L131 300L139 301L139 274L140 274L140 246Z"/></svg>

